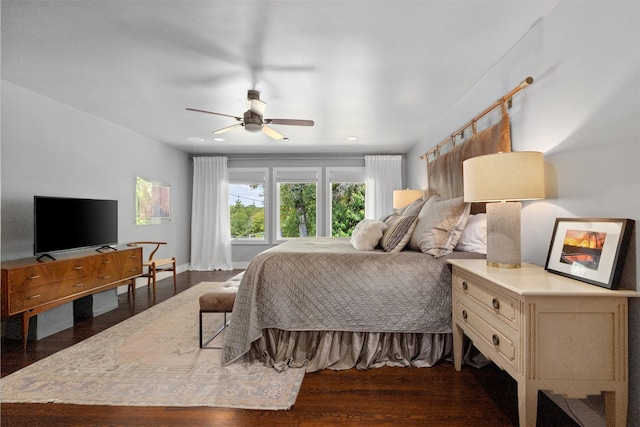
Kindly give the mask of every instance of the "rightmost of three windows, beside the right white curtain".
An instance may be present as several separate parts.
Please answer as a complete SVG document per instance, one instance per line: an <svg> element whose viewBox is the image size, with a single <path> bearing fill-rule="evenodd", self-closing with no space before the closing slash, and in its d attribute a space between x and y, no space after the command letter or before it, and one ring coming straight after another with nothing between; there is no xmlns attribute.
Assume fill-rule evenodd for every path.
<svg viewBox="0 0 640 427"><path fill-rule="evenodd" d="M364 168L327 168L331 237L349 237L364 219Z"/></svg>

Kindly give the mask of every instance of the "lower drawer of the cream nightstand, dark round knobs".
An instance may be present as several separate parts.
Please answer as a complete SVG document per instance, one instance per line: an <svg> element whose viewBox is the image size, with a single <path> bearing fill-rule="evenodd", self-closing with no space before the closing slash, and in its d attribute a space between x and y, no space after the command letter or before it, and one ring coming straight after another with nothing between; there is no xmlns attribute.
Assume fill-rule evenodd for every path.
<svg viewBox="0 0 640 427"><path fill-rule="evenodd" d="M508 334L487 323L482 314L476 313L473 308L459 299L454 300L454 316L457 318L458 325L464 329L465 334L485 356L499 366L502 365L501 361L504 361L517 368L519 358L517 346Z"/></svg>

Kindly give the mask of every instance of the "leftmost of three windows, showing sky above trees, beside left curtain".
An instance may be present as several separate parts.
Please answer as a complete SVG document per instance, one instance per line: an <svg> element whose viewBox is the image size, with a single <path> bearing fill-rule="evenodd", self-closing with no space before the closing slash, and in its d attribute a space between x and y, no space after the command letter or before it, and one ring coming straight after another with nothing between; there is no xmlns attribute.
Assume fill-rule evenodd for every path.
<svg viewBox="0 0 640 427"><path fill-rule="evenodd" d="M229 168L229 213L234 243L266 242L268 169Z"/></svg>

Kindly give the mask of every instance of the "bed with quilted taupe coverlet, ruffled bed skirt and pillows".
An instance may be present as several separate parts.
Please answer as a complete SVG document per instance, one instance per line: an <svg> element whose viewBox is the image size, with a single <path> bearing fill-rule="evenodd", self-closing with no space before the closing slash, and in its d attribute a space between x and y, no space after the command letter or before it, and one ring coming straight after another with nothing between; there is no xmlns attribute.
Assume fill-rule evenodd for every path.
<svg viewBox="0 0 640 427"><path fill-rule="evenodd" d="M500 134L504 122L493 128L483 132L497 129ZM480 148L476 144L472 151L456 147L441 156L446 166L433 169L451 175L458 183L454 187L461 186L462 161L507 151L501 144L498 138ZM452 181L430 176L429 182ZM398 214L363 221L387 225L372 238L371 247L356 244L356 234L368 236L371 231L357 228L351 239L292 239L256 256L238 288L222 364L249 357L277 370L305 367L314 372L428 367L448 355L452 322L447 259L484 255L455 250L469 231L467 224L474 222L469 219L482 214L470 214L461 188L441 190ZM388 239L390 227L410 223L407 217L414 217L413 226L405 224L398 232L401 238ZM400 248L389 250L389 242Z"/></svg>

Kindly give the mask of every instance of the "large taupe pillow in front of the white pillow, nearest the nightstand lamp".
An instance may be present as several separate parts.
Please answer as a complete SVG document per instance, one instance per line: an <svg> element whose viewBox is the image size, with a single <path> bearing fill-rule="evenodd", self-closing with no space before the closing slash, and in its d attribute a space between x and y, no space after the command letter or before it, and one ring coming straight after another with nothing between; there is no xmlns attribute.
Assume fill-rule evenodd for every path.
<svg viewBox="0 0 640 427"><path fill-rule="evenodd" d="M467 225L471 204L463 197L441 200L430 198L418 215L409 248L433 255L435 258L453 252L462 230Z"/></svg>

